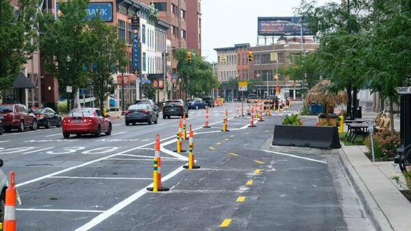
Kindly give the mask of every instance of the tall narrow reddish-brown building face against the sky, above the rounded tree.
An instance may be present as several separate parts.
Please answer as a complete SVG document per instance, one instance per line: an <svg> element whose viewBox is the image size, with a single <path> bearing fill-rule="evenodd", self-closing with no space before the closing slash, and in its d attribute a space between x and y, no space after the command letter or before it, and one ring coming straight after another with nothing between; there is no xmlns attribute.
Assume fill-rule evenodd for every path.
<svg viewBox="0 0 411 231"><path fill-rule="evenodd" d="M201 0L187 1L187 47L201 56Z"/></svg>

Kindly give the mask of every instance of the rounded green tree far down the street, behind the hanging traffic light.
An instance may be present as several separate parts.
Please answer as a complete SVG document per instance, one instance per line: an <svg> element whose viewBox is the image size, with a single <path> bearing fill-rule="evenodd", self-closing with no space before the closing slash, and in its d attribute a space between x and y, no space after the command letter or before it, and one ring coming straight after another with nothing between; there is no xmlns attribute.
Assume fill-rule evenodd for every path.
<svg viewBox="0 0 411 231"><path fill-rule="evenodd" d="M177 84L180 89L194 97L202 97L212 88L219 88L220 82L213 75L210 63L204 61L195 51L190 51L191 61L188 61L187 52L187 49L177 49L174 53L174 58L178 61Z"/></svg>

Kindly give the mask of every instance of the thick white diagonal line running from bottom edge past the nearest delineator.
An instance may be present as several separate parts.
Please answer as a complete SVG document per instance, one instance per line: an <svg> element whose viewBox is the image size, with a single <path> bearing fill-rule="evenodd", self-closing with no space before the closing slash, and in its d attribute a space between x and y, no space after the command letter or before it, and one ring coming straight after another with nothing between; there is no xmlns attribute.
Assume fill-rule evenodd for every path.
<svg viewBox="0 0 411 231"><path fill-rule="evenodd" d="M178 167L177 169L175 169L174 171L169 173L169 175L166 175L164 178L162 178L162 182L165 182L166 180L169 180L170 178L173 178L173 176L177 175L180 171L183 171L183 169L184 169L183 165ZM152 186L153 186L153 183L149 184L147 186L147 188L152 187ZM109 217L114 215L116 212L119 212L119 210L125 208L125 206L128 206L129 204L132 204L134 201L136 201L136 199L138 199L142 195L145 195L147 193L147 190L145 188L141 189L140 191L138 191L138 192L134 193L133 195L127 197L126 199L124 199L119 204L116 204L115 206L113 206L109 210L101 213L100 215L98 215L97 217L92 219L91 221L88 221L88 223L86 223L84 226L82 226L80 228L77 228L75 231L90 230L90 228L93 228L93 227L97 226L99 223L103 222L105 219L108 219Z"/></svg>

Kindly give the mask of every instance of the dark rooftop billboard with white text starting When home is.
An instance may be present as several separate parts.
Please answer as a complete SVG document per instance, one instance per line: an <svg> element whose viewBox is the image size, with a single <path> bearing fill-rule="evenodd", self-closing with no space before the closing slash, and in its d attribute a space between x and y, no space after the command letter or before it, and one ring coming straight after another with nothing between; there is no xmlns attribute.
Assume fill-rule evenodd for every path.
<svg viewBox="0 0 411 231"><path fill-rule="evenodd" d="M282 36L295 35L300 36L300 27L290 23L278 22L288 21L290 23L301 23L301 17L258 17L257 28L260 36ZM311 36L312 32L306 28L303 23L303 35Z"/></svg>

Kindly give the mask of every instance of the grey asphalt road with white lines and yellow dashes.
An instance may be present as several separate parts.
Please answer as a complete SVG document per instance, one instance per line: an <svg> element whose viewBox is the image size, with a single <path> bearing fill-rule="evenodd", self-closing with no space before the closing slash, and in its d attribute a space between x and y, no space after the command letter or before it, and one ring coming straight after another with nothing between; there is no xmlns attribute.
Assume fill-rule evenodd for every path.
<svg viewBox="0 0 411 231"><path fill-rule="evenodd" d="M336 156L277 154L269 150L273 112L256 127L232 118L237 104L190 110L200 169L182 168L179 119L125 126L111 136L71 136L61 128L0 136L2 170L16 172L22 204L17 230L372 230ZM221 132L225 110L229 132ZM162 182L152 193L155 134L160 134ZM188 149L188 140L183 142Z"/></svg>

